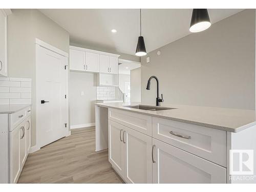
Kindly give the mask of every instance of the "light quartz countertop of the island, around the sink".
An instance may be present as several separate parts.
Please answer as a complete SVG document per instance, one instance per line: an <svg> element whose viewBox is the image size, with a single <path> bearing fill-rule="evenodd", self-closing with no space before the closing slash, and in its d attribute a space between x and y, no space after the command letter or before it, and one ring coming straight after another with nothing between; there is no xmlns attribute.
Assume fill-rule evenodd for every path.
<svg viewBox="0 0 256 192"><path fill-rule="evenodd" d="M133 108L125 108L125 105L137 105L144 103L95 103L105 108L114 108L160 117L185 123L210 127L227 132L240 132L253 125L256 125L256 111L239 110L229 108L215 108L209 106L191 106L161 103L161 106L176 108L162 111L146 111ZM150 104L152 105L152 104ZM255 127L256 129L256 127Z"/></svg>

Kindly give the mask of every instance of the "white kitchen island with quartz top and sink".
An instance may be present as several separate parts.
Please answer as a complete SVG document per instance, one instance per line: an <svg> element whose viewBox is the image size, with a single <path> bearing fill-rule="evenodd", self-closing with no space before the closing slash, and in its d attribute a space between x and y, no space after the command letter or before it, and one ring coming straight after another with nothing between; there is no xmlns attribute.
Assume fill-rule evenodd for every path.
<svg viewBox="0 0 256 192"><path fill-rule="evenodd" d="M232 153L229 157L229 150L243 156L248 151L241 150L256 148L255 111L176 104L158 111L127 105L95 104L96 151L109 148L109 161L125 182L256 182L253 167L245 172L243 161L231 161ZM246 155L256 164L250 152Z"/></svg>

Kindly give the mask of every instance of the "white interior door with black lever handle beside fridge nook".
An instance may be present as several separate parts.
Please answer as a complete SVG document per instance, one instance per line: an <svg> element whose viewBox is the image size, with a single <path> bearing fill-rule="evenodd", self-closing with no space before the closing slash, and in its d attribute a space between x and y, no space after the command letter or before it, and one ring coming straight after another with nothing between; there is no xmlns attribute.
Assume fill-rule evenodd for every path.
<svg viewBox="0 0 256 192"><path fill-rule="evenodd" d="M68 57L36 45L36 131L39 147L68 135L66 65Z"/></svg>

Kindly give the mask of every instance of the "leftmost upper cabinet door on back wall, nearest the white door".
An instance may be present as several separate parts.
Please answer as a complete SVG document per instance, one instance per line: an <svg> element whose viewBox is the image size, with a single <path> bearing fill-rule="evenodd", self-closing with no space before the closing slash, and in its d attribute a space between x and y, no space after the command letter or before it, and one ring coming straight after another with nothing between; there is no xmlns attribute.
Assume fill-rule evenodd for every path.
<svg viewBox="0 0 256 192"><path fill-rule="evenodd" d="M84 71L84 51L69 50L70 70Z"/></svg>

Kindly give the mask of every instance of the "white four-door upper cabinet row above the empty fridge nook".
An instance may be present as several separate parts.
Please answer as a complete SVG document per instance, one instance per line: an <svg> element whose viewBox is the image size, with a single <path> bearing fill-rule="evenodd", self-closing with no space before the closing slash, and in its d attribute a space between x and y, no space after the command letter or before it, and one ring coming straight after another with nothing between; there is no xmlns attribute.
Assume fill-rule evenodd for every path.
<svg viewBox="0 0 256 192"><path fill-rule="evenodd" d="M70 46L70 70L118 74L118 57L112 53Z"/></svg>

